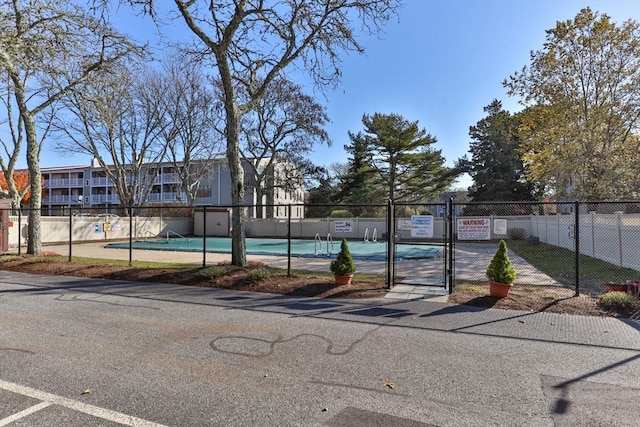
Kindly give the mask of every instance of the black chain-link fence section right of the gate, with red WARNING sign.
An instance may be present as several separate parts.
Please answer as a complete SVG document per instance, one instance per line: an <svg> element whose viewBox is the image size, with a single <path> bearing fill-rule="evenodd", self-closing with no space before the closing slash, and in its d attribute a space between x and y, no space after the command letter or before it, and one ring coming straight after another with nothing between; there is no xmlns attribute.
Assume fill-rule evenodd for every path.
<svg viewBox="0 0 640 427"><path fill-rule="evenodd" d="M637 202L453 204L456 283L480 283L497 242L505 240L530 288L600 295L640 281Z"/></svg>

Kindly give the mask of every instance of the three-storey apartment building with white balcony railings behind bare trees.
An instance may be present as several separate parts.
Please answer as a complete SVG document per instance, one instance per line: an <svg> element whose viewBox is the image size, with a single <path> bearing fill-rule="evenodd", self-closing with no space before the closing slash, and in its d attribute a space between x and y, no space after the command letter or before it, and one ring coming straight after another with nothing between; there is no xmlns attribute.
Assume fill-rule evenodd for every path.
<svg viewBox="0 0 640 427"><path fill-rule="evenodd" d="M268 162L263 159L262 163ZM282 163L284 164L284 163ZM151 186L146 200L137 201L140 205L186 205L187 195L182 191L181 165L161 163L149 165L144 173L149 179L141 180ZM276 164L272 176L269 176L258 189L253 184L251 165L243 162L245 171L245 200L249 217L286 218L288 204L302 204L304 193L302 185L290 182L287 188L273 183L280 182L278 174L282 168ZM106 172L99 167L97 161L89 166L68 166L42 168L44 194L42 198L43 215L68 215L70 211L80 209L91 212L112 213L120 211L121 203L116 187ZM262 194L259 203L258 194ZM229 206L231 205L231 176L226 159L215 159L208 165L201 179L195 197L196 206ZM292 209L293 218L302 218L302 206Z"/></svg>

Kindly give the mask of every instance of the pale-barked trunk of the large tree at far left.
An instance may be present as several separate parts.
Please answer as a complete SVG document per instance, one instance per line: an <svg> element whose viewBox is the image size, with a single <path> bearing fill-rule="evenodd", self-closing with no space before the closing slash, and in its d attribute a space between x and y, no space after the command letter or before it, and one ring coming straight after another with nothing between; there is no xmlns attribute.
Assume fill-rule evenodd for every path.
<svg viewBox="0 0 640 427"><path fill-rule="evenodd" d="M27 253L41 255L40 207L42 205L42 174L40 172L40 150L36 135L36 121L32 115L25 117L24 127L27 134L27 167L29 168L29 183L31 184Z"/></svg>

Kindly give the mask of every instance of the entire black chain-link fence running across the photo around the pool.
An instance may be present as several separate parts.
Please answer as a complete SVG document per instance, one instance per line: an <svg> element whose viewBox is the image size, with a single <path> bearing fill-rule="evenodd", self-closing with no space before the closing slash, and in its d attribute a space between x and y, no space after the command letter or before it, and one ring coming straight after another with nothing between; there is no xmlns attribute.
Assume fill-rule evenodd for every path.
<svg viewBox="0 0 640 427"><path fill-rule="evenodd" d="M451 200L243 209L247 259L290 270L329 271L346 238L358 272L385 275L389 286L408 283L451 292L486 286L486 268L498 242L505 240L516 285L542 295L596 296L640 282L638 201ZM81 244L93 242L127 251L130 261L142 251L183 251L191 254L190 262L207 265L231 259L231 211L231 206L136 206L129 215L127 209L70 207L65 216L43 216L41 236L45 249L68 247L70 259L84 255ZM279 216L261 218L265 212ZM326 216L310 218L305 212ZM28 213L8 215L9 250L25 251Z"/></svg>

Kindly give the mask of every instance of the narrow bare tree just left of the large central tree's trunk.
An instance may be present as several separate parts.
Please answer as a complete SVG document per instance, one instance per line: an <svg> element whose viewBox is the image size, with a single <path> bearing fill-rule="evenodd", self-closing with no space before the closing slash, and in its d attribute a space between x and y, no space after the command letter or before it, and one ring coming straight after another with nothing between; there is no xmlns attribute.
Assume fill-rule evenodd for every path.
<svg viewBox="0 0 640 427"><path fill-rule="evenodd" d="M169 55L150 90L164 105L167 157L180 180L181 193L193 205L200 182L211 170L223 147L223 134L215 132L213 90L198 61L183 53Z"/></svg>

